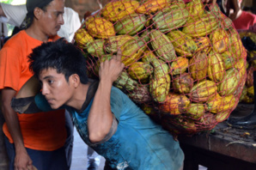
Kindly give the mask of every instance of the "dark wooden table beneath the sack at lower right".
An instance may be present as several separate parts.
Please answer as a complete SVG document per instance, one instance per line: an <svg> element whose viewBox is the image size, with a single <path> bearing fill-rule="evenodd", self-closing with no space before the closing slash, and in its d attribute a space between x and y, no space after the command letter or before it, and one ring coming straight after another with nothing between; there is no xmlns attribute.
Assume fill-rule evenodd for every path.
<svg viewBox="0 0 256 170"><path fill-rule="evenodd" d="M253 111L253 105L239 105L231 117L244 116ZM184 170L256 170L256 130L245 131L217 124L213 132L193 137L179 137L185 153Z"/></svg>

